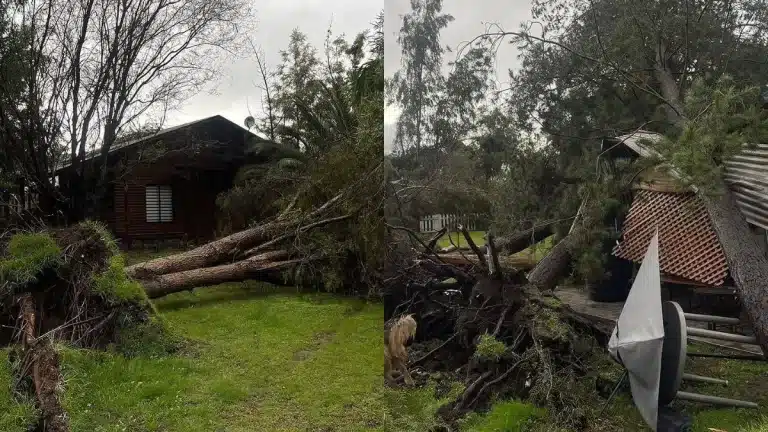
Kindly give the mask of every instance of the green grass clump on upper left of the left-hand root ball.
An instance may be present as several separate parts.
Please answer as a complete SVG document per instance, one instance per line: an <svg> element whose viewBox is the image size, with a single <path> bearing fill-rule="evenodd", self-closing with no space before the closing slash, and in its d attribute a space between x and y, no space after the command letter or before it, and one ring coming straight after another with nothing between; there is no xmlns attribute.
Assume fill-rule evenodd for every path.
<svg viewBox="0 0 768 432"><path fill-rule="evenodd" d="M5 256L0 257L0 288L34 283L59 262L61 250L45 233L21 233L11 237Z"/></svg>

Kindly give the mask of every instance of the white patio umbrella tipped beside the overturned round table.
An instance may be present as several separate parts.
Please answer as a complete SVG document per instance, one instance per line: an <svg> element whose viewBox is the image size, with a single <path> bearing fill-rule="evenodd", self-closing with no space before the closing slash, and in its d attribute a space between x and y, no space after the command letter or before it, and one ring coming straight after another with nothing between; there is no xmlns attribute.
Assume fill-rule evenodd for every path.
<svg viewBox="0 0 768 432"><path fill-rule="evenodd" d="M657 230L608 341L608 352L627 369L635 406L654 431L659 413L663 343Z"/></svg>

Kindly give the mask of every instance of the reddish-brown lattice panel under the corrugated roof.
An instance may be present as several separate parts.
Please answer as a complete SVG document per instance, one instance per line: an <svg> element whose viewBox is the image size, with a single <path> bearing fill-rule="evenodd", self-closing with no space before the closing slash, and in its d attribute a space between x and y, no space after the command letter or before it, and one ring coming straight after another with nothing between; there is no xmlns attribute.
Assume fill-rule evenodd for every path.
<svg viewBox="0 0 768 432"><path fill-rule="evenodd" d="M720 242L693 193L637 190L613 254L640 263L659 229L659 263L667 274L721 286L728 273Z"/></svg>

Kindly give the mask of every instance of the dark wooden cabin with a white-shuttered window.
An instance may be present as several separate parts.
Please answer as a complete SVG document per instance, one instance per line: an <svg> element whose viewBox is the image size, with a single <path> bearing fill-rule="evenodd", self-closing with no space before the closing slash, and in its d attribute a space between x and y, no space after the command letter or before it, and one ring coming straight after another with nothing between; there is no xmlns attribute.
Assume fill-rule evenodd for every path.
<svg viewBox="0 0 768 432"><path fill-rule="evenodd" d="M107 158L105 202L90 217L105 222L126 247L210 240L217 227L216 198L232 186L245 144L255 136L217 115L120 141ZM56 173L66 194L71 166Z"/></svg>

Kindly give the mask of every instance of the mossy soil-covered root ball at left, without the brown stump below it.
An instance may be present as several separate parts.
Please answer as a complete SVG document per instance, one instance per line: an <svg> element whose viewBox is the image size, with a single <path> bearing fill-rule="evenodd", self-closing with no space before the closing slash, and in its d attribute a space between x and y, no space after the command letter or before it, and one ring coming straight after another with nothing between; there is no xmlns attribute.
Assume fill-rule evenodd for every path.
<svg viewBox="0 0 768 432"><path fill-rule="evenodd" d="M116 344L154 315L142 286L125 275L114 239L96 222L14 235L0 251L0 294L2 324L18 327L17 299L29 294L38 334L83 348ZM0 333L0 345L14 340L13 332Z"/></svg>

